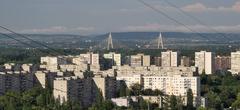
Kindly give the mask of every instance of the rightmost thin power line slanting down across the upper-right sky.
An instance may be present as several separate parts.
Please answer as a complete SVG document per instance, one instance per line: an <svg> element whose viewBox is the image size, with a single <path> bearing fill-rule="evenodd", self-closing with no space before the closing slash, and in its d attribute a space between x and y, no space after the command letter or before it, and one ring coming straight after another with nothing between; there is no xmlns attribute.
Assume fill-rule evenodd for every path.
<svg viewBox="0 0 240 110"><path fill-rule="evenodd" d="M166 2L167 4L169 4L170 6L176 8L177 10L179 10L179 11L180 11L181 13L183 13L185 16L188 16L189 18L195 20L195 21L198 22L199 24L201 24L201 25L209 28L209 29L212 30L213 32L215 32L215 33L221 35L222 37L230 40L230 39L229 39L227 36L225 36L223 33L221 33L221 32L219 32L218 30L216 30L216 29L214 29L214 28L206 25L204 22L202 22L202 21L201 21L200 19L198 19L197 17L195 17L195 16L193 16L193 15L191 15L191 14L186 13L184 10L182 10L181 8L179 8L177 5L171 3L171 2L168 1L168 0L163 0L163 1Z"/></svg>

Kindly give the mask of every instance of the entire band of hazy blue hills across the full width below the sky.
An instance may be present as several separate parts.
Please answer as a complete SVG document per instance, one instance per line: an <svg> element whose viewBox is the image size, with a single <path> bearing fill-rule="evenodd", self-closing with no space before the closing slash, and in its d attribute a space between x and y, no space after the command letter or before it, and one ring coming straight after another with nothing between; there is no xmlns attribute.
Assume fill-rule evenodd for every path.
<svg viewBox="0 0 240 110"><path fill-rule="evenodd" d="M11 35L11 34L10 34ZM81 36L71 34L25 34L27 37L58 48L89 48L103 43L107 39L107 34L94 36ZM19 36L11 35L21 41L30 42ZM159 32L113 32L113 42L125 47L135 47L136 45L147 45L156 42ZM240 34L224 33L181 33L163 32L165 45L209 45L209 44L239 44ZM30 42L31 43L31 42ZM106 43L103 43L106 44ZM0 46L22 45L17 41L0 35ZM23 45L22 45L23 46Z"/></svg>

